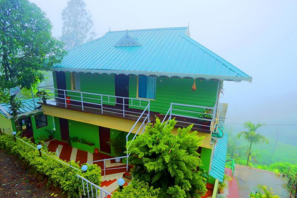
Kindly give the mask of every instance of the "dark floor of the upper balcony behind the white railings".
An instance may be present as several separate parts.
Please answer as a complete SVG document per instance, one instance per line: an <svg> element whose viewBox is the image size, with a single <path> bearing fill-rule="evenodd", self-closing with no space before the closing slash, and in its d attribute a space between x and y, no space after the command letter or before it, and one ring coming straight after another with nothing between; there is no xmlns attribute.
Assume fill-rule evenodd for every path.
<svg viewBox="0 0 297 198"><path fill-rule="evenodd" d="M59 100L59 99L50 99L50 100L47 100L46 104L45 103L40 103L40 104L48 105L48 106L52 106L52 107L60 107L60 108L69 109L69 110L76 110L76 111L81 111L81 112L86 112L86 113L94 113L94 114L98 114L98 115L106 115L106 116L113 116L113 117L117 117L117 118L123 118L122 105L120 107L117 107L117 106L113 106L113 105L103 104L103 113L102 113L101 104L90 104L87 102L83 102L83 110L81 107L81 102L76 102L76 101L71 101L70 103L67 103L67 107L64 103L64 100ZM113 112L110 112L111 109ZM143 112L143 110L129 108L129 105L125 105L125 111L129 111L129 115L125 114L124 118L129 119L129 120L134 120L134 121L137 121L137 119ZM146 111L145 113L148 113L148 111ZM160 118L160 120L162 121L165 115L160 115L158 112L150 111L151 123L156 122L155 116L158 116ZM182 123L179 121L188 122L188 123L196 123L197 122L197 120L195 120L195 119L185 118L182 116L176 116L175 118L176 118L175 120L178 121L176 123L176 128L189 126L189 124ZM143 121L144 118L140 118L140 120ZM199 132L210 134L209 127L207 127L207 126L200 126L200 125L194 124L192 130L193 131L197 130Z"/></svg>

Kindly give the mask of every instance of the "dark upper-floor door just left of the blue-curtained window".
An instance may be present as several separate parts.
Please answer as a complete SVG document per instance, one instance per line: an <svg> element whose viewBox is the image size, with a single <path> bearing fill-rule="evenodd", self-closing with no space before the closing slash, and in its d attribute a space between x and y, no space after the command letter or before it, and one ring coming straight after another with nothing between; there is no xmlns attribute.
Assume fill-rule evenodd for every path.
<svg viewBox="0 0 297 198"><path fill-rule="evenodd" d="M117 75L115 76L115 95L120 97L129 97L129 76ZM129 99L125 99L125 108L129 107ZM123 99L116 98L116 106L123 107Z"/></svg>

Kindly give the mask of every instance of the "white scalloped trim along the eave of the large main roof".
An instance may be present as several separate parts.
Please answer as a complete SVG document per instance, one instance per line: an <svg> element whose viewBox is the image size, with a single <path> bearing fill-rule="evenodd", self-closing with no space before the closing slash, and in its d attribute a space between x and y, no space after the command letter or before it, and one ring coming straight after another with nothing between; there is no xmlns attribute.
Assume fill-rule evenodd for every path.
<svg viewBox="0 0 297 198"><path fill-rule="evenodd" d="M145 75L145 76L166 76L166 77L180 77L180 78L193 78L205 80L227 80L227 81L247 81L252 83L252 77L242 76L222 76L222 75L208 75L208 74L184 74L184 73L171 73L171 72L146 72L146 71L127 71L127 70L105 70L105 69L71 69L71 68L53 68L57 72L83 72L83 73L98 73L98 74L124 74L124 75Z"/></svg>

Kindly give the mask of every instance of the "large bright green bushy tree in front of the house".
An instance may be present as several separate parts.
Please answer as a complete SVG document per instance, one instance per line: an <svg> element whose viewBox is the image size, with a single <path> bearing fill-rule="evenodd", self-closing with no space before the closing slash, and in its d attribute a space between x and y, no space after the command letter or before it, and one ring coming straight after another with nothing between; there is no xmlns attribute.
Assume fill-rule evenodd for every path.
<svg viewBox="0 0 297 198"><path fill-rule="evenodd" d="M133 178L145 181L159 197L200 197L206 193L205 183L197 167L202 166L197 149L204 137L190 132L192 125L171 131L176 121L156 123L146 127L146 132L127 143Z"/></svg>

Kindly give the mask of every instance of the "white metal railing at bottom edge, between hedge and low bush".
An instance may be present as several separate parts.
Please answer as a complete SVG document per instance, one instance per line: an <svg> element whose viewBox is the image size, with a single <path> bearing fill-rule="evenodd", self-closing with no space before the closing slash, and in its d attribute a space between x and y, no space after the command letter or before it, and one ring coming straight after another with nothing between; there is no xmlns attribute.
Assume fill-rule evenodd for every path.
<svg viewBox="0 0 297 198"><path fill-rule="evenodd" d="M81 182L83 184L83 196L86 197L86 195L88 195L88 198L92 197L92 198L103 198L106 197L108 195L111 196L111 194L102 189L101 187L97 186L96 184L90 182L89 180L83 178L82 176L76 174L78 179L81 179ZM85 184L86 183L86 184ZM85 188L86 186L86 188ZM80 191L79 187L78 187L78 191Z"/></svg>

